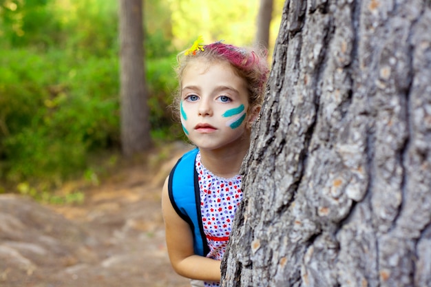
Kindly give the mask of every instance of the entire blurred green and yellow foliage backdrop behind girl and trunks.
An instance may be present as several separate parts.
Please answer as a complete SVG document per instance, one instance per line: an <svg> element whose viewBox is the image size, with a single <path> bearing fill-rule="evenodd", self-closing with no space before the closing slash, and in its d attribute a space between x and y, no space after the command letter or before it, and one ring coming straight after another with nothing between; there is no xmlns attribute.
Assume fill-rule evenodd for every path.
<svg viewBox="0 0 431 287"><path fill-rule="evenodd" d="M282 5L274 0L270 55ZM253 45L259 6L259 0L144 1L154 142L182 138L167 109L177 52L200 34L206 43ZM23 182L38 193L70 178L94 178L116 158L118 8L113 0L0 0L0 193Z"/></svg>

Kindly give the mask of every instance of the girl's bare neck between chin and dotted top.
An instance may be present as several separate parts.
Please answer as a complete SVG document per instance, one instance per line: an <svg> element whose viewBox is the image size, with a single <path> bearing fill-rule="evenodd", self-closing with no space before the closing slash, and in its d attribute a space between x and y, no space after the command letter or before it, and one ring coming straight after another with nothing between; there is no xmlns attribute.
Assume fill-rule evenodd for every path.
<svg viewBox="0 0 431 287"><path fill-rule="evenodd" d="M249 145L240 148L200 149L201 161L211 173L220 178L232 178L240 172Z"/></svg>

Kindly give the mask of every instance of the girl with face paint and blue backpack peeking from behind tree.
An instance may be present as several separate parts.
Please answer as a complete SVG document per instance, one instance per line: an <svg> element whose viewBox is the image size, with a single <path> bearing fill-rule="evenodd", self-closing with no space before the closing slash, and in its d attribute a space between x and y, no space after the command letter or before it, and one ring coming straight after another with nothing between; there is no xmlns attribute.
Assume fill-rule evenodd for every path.
<svg viewBox="0 0 431 287"><path fill-rule="evenodd" d="M174 270L193 286L219 286L220 261L242 198L242 160L262 104L266 54L199 37L178 55L176 99L182 129L196 145L162 191L166 242ZM204 284L202 284L204 281Z"/></svg>

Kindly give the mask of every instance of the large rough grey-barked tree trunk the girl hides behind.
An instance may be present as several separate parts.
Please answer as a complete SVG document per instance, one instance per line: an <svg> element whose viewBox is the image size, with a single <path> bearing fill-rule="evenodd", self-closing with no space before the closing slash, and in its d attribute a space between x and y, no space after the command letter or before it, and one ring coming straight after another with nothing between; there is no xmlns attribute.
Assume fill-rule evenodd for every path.
<svg viewBox="0 0 431 287"><path fill-rule="evenodd" d="M286 1L222 286L431 285L430 27L430 1Z"/></svg>

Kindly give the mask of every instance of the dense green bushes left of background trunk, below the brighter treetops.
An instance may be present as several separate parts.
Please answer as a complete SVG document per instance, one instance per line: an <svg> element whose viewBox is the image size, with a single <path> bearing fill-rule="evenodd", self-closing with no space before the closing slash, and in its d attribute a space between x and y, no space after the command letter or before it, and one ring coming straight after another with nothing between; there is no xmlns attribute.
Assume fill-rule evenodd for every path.
<svg viewBox="0 0 431 287"><path fill-rule="evenodd" d="M86 166L89 151L118 145L118 59L2 53L0 155L8 179L61 181Z"/></svg>

